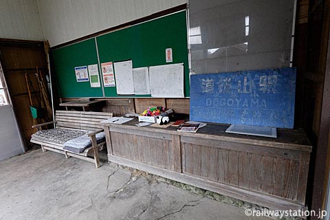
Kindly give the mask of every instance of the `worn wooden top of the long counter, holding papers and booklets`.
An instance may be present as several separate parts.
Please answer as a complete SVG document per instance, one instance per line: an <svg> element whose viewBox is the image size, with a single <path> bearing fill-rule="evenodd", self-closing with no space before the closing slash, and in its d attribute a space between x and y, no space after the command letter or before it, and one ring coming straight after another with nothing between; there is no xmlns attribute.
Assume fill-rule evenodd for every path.
<svg viewBox="0 0 330 220"><path fill-rule="evenodd" d="M196 137L200 140L214 140L219 142L232 142L236 146L239 144L250 144L253 146L261 146L262 148L279 148L292 151L307 151L311 152L311 143L307 139L305 132L293 129L277 129L277 138L273 137L258 137L252 135L239 135L233 133L225 133L228 129L228 124L208 123L202 127L197 133L178 132L177 127L169 126L166 129L155 128L151 126L137 127L137 119L126 122L125 124L110 124L103 123L108 126L110 131L122 130L131 133L141 133L142 135L179 135L180 137ZM166 137L167 138L167 137ZM267 150L266 150L267 151Z"/></svg>

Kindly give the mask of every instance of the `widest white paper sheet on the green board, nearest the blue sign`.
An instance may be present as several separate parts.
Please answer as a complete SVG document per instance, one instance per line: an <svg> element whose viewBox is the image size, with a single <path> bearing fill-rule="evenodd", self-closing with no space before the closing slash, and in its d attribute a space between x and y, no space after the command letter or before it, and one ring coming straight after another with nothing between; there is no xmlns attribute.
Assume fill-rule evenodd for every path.
<svg viewBox="0 0 330 220"><path fill-rule="evenodd" d="M184 97L184 64L149 67L149 81L152 97Z"/></svg>

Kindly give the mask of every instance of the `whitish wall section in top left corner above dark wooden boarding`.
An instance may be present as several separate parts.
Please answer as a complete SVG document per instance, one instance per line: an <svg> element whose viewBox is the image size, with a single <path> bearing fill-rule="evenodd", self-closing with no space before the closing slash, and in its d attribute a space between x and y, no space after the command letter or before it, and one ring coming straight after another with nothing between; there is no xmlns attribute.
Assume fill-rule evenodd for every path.
<svg viewBox="0 0 330 220"><path fill-rule="evenodd" d="M44 39L36 0L0 0L0 38Z"/></svg>

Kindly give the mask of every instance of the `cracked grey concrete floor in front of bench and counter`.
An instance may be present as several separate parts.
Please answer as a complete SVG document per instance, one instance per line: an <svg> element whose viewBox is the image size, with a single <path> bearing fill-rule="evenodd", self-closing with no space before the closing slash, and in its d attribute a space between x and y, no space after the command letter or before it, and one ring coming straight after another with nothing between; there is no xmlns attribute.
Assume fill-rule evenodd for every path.
<svg viewBox="0 0 330 220"><path fill-rule="evenodd" d="M0 219L268 219L116 164L41 149L0 162Z"/></svg>

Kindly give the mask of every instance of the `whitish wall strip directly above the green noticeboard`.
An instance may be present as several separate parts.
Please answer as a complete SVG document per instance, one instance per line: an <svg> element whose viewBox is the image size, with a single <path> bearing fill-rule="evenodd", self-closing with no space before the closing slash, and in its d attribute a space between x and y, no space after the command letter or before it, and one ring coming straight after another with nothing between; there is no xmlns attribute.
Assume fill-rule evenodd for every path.
<svg viewBox="0 0 330 220"><path fill-rule="evenodd" d="M36 0L51 46L146 17L187 0Z"/></svg>

